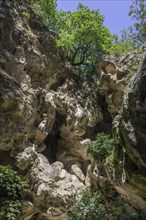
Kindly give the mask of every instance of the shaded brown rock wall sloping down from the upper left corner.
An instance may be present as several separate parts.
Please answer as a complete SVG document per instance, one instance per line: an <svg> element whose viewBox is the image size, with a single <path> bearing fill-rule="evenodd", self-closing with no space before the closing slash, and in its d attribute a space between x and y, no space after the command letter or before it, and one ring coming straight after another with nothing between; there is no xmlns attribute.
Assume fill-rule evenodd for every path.
<svg viewBox="0 0 146 220"><path fill-rule="evenodd" d="M45 103L43 97L49 87L68 73L72 74L69 63L62 61L62 54L47 29L37 23L31 11L28 26L29 21L22 16L25 4L20 2L20 7L17 4L15 1L0 2L3 17L0 30L0 148L3 150L25 145L28 139L37 145L43 142L55 116L54 107L50 102ZM49 117L47 111L50 111Z"/></svg>

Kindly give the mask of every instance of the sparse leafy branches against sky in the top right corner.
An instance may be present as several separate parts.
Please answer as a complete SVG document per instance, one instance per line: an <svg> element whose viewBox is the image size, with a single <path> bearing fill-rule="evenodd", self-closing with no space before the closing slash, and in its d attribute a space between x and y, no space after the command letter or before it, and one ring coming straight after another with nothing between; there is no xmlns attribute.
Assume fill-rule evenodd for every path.
<svg viewBox="0 0 146 220"><path fill-rule="evenodd" d="M135 21L132 38L135 42L144 44L146 41L146 1L133 0L129 16Z"/></svg>

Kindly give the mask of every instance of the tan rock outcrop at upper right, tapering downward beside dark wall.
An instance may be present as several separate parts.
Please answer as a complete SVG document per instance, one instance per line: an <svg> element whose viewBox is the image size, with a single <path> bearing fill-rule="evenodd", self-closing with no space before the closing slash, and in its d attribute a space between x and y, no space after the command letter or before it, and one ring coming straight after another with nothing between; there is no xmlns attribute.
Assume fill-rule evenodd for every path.
<svg viewBox="0 0 146 220"><path fill-rule="evenodd" d="M126 86L132 75L136 73L142 57L142 51L125 56L106 56L102 62L97 64L100 76L99 90L106 97L112 118L122 107Z"/></svg>

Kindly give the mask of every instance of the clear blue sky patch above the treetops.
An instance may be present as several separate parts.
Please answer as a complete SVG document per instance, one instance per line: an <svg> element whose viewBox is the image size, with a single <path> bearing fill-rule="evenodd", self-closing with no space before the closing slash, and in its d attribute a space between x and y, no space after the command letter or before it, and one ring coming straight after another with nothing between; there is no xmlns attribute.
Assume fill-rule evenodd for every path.
<svg viewBox="0 0 146 220"><path fill-rule="evenodd" d="M111 33L119 34L120 30L132 25L128 16L129 7L132 5L132 0L58 0L58 9L76 10L79 3L88 6L90 9L99 9L104 16L104 25L108 27Z"/></svg>

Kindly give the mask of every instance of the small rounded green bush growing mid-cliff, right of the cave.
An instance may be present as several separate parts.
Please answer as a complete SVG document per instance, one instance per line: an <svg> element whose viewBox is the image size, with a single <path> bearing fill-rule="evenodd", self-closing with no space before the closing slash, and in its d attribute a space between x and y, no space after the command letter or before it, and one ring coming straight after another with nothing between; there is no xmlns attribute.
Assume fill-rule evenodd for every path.
<svg viewBox="0 0 146 220"><path fill-rule="evenodd" d="M110 138L107 134L98 133L96 140L91 141L87 146L87 154L93 160L103 161L112 153L117 144L118 140Z"/></svg>

